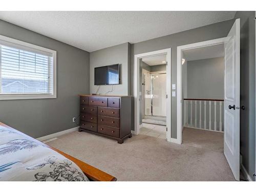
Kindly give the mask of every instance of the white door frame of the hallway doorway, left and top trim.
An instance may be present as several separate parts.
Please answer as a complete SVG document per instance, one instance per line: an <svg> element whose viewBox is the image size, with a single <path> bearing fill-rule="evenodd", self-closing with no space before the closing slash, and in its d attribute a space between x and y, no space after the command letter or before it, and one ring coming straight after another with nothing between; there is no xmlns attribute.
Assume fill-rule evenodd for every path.
<svg viewBox="0 0 256 192"><path fill-rule="evenodd" d="M227 37L212 39L207 41L196 42L194 44L188 44L177 47L177 143L182 143L182 71L181 71L181 53L184 50L202 48L208 46L214 46L224 44L228 39Z"/></svg>

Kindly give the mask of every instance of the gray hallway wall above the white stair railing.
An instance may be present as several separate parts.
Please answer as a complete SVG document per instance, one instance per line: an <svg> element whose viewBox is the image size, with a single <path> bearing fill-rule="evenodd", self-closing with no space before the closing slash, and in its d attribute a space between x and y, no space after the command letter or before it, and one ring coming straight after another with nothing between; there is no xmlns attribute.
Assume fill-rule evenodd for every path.
<svg viewBox="0 0 256 192"><path fill-rule="evenodd" d="M224 98L224 57L187 61L187 98Z"/></svg>

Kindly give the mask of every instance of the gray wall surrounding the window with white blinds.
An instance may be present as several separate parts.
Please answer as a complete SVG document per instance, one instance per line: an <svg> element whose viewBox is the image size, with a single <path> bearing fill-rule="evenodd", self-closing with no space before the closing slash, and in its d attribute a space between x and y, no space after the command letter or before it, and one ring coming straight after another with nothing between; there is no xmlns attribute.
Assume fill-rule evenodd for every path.
<svg viewBox="0 0 256 192"><path fill-rule="evenodd" d="M78 94L89 93L89 53L0 20L0 34L57 51L57 98L0 100L0 121L32 137L78 126Z"/></svg>

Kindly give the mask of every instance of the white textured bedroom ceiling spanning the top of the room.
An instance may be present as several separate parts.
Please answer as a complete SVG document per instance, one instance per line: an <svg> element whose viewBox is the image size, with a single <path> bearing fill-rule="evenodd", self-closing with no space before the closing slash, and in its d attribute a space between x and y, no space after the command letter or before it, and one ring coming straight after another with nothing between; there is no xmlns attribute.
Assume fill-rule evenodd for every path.
<svg viewBox="0 0 256 192"><path fill-rule="evenodd" d="M0 19L92 52L232 19L235 11L0 11Z"/></svg>

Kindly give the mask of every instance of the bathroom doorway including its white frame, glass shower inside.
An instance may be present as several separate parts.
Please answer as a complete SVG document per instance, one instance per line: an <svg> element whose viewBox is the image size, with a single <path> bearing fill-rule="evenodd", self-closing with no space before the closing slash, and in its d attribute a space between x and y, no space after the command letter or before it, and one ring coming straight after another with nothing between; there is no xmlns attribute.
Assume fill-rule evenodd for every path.
<svg viewBox="0 0 256 192"><path fill-rule="evenodd" d="M141 53L134 56L134 99L135 99L135 131L173 142L171 136L171 48ZM163 74L161 74L163 73ZM165 73L165 74L164 74ZM158 76L158 77L157 77ZM165 76L165 87L158 79ZM144 77L144 78L143 78ZM148 83L144 84L148 78ZM154 81L154 80L155 81ZM153 82L151 81L153 80ZM161 87L165 90L162 90ZM148 89L145 89L148 86ZM150 88L149 88L150 87ZM152 87L152 88L151 88ZM155 88L154 88L155 87ZM158 89L158 91L156 91ZM159 91L161 90L161 91ZM147 93L146 93L147 92ZM161 101L162 100L162 101ZM150 105L148 105L150 103ZM160 103L165 103L160 104ZM147 107L150 106L150 108ZM159 105L159 106L157 106ZM146 106L146 108L145 108ZM165 107L165 108L164 108ZM165 113L164 113L165 111ZM142 120L150 119L165 121L166 125L159 122L144 123ZM160 133L161 132L161 133Z"/></svg>

